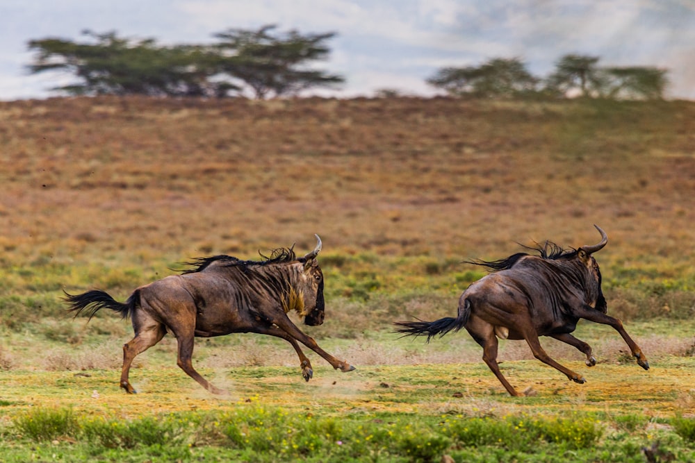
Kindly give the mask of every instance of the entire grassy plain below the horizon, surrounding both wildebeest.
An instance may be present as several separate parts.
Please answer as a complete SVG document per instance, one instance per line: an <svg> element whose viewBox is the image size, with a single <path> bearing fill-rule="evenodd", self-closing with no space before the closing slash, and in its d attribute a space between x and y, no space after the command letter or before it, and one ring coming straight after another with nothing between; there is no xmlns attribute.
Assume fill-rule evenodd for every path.
<svg viewBox="0 0 695 463"><path fill-rule="evenodd" d="M15 101L0 146L0 460L695 460L695 103ZM530 393L511 398L466 333L391 333L455 314L484 275L463 260L594 244L593 224L609 313L650 371L580 323L596 367L542 342L587 384L505 342L502 371ZM314 233L327 321L306 332L351 373L312 353L306 383L286 342L200 339L216 397L165 337L126 396L129 323L60 301L124 300L198 256L303 253Z"/></svg>

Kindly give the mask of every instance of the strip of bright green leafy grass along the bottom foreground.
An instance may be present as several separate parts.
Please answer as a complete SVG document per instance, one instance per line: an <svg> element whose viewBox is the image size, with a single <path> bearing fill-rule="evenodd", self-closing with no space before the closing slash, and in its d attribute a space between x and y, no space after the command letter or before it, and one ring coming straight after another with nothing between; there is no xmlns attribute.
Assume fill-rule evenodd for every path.
<svg viewBox="0 0 695 463"><path fill-rule="evenodd" d="M680 419L683 422L683 419ZM644 424L620 416L619 423ZM675 422L675 421L674 421ZM692 423L692 420L689 420ZM692 427L692 424L689 424ZM676 433L682 435L681 428ZM692 439L645 426L610 427L601 414L378 413L321 416L289 412L257 400L228 412L178 412L135 419L75 414L70 409L34 410L3 430L4 461L47 457L99 461L195 461L214 457L272 461L436 462L457 461L643 461L641 444L658 443L677 461L695 457Z"/></svg>

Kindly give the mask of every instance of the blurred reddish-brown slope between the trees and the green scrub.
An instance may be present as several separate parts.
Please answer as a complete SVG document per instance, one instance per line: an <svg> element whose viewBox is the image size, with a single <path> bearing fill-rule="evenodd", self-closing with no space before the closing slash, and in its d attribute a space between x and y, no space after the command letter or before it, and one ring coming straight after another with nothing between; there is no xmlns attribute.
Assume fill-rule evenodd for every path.
<svg viewBox="0 0 695 463"><path fill-rule="evenodd" d="M695 103L0 103L5 262L325 252L500 257L610 237L689 265Z"/></svg>

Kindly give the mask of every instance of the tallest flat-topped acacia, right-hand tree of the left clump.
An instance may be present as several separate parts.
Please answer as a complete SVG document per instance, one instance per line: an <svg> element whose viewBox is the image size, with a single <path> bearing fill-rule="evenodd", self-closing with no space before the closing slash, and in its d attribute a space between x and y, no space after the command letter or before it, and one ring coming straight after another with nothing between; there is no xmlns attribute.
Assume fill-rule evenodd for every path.
<svg viewBox="0 0 695 463"><path fill-rule="evenodd" d="M218 51L216 71L231 80L242 92L256 99L295 95L311 87L344 82L343 77L314 69L311 62L325 60L330 49L326 41L335 33L306 34L297 31L274 33L267 25L256 31L232 28L217 33L213 47Z"/></svg>

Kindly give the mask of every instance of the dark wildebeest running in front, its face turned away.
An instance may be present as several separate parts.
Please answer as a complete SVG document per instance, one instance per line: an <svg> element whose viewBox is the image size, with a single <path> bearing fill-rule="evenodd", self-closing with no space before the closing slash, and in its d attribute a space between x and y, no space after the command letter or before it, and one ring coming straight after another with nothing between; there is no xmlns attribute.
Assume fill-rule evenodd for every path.
<svg viewBox="0 0 695 463"><path fill-rule="evenodd" d="M538 339L550 336L578 348L587 355L587 366L593 367L596 359L591 355L591 346L570 334L579 319L612 326L630 346L637 363L648 370L646 357L623 328L623 323L607 315L601 273L591 254L603 249L608 237L600 227L594 226L601 234L601 241L593 246L565 250L546 242L543 247L528 248L538 251L539 255L516 253L491 262L468 261L487 267L493 273L477 280L461 294L456 318L397 322L396 331L404 335L427 335L427 342L430 342L436 335L466 328L482 346L484 362L512 396L519 394L500 372L497 337L525 339L534 357L581 384L584 378L550 358Z"/></svg>

